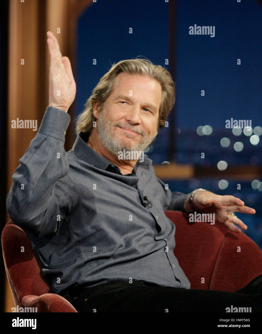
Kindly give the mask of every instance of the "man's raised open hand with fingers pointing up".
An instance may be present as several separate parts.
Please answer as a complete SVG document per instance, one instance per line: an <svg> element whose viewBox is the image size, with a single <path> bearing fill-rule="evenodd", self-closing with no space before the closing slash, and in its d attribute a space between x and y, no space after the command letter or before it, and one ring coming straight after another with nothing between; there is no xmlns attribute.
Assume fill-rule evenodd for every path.
<svg viewBox="0 0 262 334"><path fill-rule="evenodd" d="M57 39L47 31L47 44L50 52L49 106L68 112L75 100L76 82L68 57L61 55Z"/></svg>

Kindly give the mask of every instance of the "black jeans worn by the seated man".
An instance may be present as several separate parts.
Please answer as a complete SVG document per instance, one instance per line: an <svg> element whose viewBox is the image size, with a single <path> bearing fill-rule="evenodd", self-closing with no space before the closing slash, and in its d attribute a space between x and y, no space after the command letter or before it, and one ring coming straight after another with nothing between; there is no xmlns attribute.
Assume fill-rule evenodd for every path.
<svg viewBox="0 0 262 334"><path fill-rule="evenodd" d="M66 298L78 312L226 312L244 307L262 312L262 275L236 292L161 287L142 281L113 281L69 289ZM251 308L251 309L250 309ZM243 311L242 311L243 312Z"/></svg>

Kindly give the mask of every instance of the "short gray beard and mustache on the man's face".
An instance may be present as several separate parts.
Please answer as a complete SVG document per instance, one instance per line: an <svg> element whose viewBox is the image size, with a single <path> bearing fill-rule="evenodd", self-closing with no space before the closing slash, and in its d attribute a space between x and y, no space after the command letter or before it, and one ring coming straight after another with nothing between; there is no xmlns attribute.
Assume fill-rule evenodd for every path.
<svg viewBox="0 0 262 334"><path fill-rule="evenodd" d="M139 136L140 140L136 143L129 140L128 138L137 137L137 135L132 133L125 133L120 138L120 133L117 134L117 127L126 128L141 134L141 136ZM147 136L144 131L138 130L137 126L131 126L130 124L121 124L120 122L112 124L110 120L107 120L104 117L103 110L100 111L99 119L97 121L97 132L103 145L116 156L119 155L119 151L123 152L124 150L130 152L144 151L153 144L157 135L157 131L155 131L153 135Z"/></svg>

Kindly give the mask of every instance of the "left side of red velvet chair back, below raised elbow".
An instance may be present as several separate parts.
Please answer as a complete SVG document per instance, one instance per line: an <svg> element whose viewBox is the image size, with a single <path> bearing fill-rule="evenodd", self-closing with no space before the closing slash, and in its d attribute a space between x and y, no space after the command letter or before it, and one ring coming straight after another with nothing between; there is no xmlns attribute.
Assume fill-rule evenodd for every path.
<svg viewBox="0 0 262 334"><path fill-rule="evenodd" d="M1 241L14 305L21 307L24 296L50 293L50 287L41 277L41 267L25 230L10 220L3 228Z"/></svg>

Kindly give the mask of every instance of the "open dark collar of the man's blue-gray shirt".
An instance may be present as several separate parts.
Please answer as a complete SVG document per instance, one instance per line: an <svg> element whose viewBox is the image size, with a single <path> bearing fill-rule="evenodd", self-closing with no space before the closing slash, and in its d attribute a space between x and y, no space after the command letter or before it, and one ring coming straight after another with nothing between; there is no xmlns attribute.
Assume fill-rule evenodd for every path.
<svg viewBox="0 0 262 334"><path fill-rule="evenodd" d="M87 145L86 141L88 140L88 137L89 136L87 134L82 132L78 134L70 151L73 151L79 159L87 162L90 165L93 165L94 167L106 169L108 165L112 165L112 162L102 157L102 155ZM144 161L141 162L140 160L137 160L134 171L136 172L136 169L139 165L150 166L151 164L152 160L148 158L147 154L144 153Z"/></svg>

